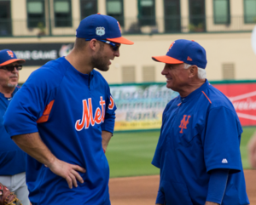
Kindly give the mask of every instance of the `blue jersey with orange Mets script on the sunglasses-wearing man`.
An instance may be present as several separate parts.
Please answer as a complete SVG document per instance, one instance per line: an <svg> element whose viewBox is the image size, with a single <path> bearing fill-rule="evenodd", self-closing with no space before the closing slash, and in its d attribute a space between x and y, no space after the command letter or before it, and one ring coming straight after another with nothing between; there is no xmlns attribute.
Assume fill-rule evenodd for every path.
<svg viewBox="0 0 256 205"><path fill-rule="evenodd" d="M114 105L98 71L77 71L64 57L32 72L9 105L4 125L11 136L38 132L58 159L79 165L84 183L69 189L66 179L27 157L26 183L33 205L109 205L108 161L102 130L113 133Z"/></svg>

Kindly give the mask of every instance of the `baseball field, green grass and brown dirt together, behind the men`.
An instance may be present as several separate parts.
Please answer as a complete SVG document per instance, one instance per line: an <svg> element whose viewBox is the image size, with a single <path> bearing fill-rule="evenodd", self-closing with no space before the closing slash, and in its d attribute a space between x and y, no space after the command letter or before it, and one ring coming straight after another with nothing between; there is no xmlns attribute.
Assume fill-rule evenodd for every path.
<svg viewBox="0 0 256 205"><path fill-rule="evenodd" d="M241 159L247 194L256 205L256 170L247 159L247 143L256 127L243 128ZM160 131L114 133L108 145L109 190L112 205L154 204L159 185L159 169L151 165Z"/></svg>

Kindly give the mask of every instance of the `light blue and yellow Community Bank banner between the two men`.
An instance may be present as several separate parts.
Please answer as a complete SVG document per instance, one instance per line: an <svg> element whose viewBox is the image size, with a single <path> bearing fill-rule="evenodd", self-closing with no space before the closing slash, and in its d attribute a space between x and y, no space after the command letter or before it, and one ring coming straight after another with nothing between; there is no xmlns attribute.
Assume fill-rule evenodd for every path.
<svg viewBox="0 0 256 205"><path fill-rule="evenodd" d="M160 129L167 103L178 95L166 83L110 86L110 90L117 106L115 131Z"/></svg>

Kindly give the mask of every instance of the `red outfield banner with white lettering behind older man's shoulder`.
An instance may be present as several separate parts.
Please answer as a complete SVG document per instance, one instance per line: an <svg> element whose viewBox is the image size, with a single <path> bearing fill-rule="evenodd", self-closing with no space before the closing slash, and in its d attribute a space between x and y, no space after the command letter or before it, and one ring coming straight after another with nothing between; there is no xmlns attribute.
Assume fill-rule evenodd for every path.
<svg viewBox="0 0 256 205"><path fill-rule="evenodd" d="M242 126L256 125L256 83L212 85L233 103Z"/></svg>

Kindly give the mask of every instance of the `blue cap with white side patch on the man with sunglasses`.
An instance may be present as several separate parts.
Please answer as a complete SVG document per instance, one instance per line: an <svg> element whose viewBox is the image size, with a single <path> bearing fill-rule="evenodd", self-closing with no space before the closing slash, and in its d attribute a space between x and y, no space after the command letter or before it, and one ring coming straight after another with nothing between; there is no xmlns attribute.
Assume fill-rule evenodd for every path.
<svg viewBox="0 0 256 205"><path fill-rule="evenodd" d="M119 21L109 15L92 14L81 20L76 31L76 37L105 40L114 43L133 44L121 35Z"/></svg>

